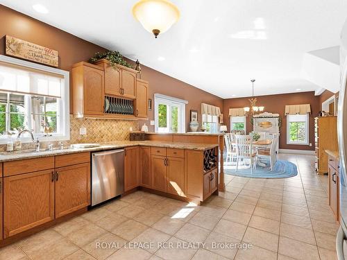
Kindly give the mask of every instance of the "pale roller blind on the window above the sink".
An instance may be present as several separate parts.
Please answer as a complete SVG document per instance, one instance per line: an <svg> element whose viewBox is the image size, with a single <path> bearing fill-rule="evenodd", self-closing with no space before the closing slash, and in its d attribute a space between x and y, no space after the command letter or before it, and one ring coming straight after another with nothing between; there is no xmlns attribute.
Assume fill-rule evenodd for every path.
<svg viewBox="0 0 347 260"><path fill-rule="evenodd" d="M55 73L0 62L0 91L60 98L62 79Z"/></svg>

